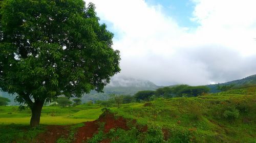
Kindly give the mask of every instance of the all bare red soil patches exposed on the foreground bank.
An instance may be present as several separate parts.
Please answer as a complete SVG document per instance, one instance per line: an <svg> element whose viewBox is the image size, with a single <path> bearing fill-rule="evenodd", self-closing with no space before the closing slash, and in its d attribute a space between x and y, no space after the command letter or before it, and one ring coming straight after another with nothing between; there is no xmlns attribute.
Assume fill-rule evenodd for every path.
<svg viewBox="0 0 256 143"><path fill-rule="evenodd" d="M114 114L105 112L98 120L92 122L85 122L83 127L78 128L77 133L74 138L76 139L74 143L86 142L86 140L93 137L94 134L98 133L98 128L100 123L104 123L104 133L108 133L111 129L121 128L123 130L129 130L127 126L127 121L122 117L115 117ZM147 131L147 126L136 125L136 120L131 121L132 125L136 126L141 132ZM167 140L169 137L169 132L163 129L164 139ZM69 135L69 126L48 126L45 133L38 135L37 143L55 143L59 137ZM109 143L111 139L103 139L100 143Z"/></svg>

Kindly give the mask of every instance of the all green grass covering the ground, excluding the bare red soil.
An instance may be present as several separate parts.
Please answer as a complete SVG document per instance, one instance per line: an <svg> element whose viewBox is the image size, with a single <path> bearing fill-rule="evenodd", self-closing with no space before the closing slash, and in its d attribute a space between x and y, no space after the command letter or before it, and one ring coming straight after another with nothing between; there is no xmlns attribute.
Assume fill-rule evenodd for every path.
<svg viewBox="0 0 256 143"><path fill-rule="evenodd" d="M248 87L191 98L158 98L152 102L122 104L111 112L147 125L146 133L131 130L99 131L97 138L112 142L256 142L256 88ZM0 142L12 142L18 136L33 139L46 125L72 125L98 119L102 106L97 104L42 109L40 128L28 127L30 110L18 111L17 106L0 107ZM14 123L14 124L13 124ZM163 130L168 132L164 140ZM31 134L30 136L27 136ZM14 136L14 137L11 137ZM118 137L117 137L118 136ZM96 138L96 139L95 139ZM96 141L95 141L96 140ZM26 142L26 141L25 141Z"/></svg>

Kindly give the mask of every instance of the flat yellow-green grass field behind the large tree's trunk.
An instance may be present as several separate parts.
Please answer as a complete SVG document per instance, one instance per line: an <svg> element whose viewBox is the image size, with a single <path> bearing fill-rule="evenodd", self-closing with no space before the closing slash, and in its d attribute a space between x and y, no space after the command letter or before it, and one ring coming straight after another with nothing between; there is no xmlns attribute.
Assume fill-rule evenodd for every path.
<svg viewBox="0 0 256 143"><path fill-rule="evenodd" d="M99 105L71 107L45 106L42 108L40 124L71 125L98 119L102 113ZM18 110L18 106L0 106L0 124L29 125L31 110Z"/></svg>

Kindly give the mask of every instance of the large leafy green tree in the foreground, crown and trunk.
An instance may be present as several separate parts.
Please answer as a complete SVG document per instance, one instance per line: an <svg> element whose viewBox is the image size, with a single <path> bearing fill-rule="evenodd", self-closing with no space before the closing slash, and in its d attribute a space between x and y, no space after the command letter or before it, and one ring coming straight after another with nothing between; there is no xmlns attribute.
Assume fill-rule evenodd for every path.
<svg viewBox="0 0 256 143"><path fill-rule="evenodd" d="M120 71L113 34L82 0L4 0L0 6L0 88L32 111L58 96L102 92Z"/></svg>

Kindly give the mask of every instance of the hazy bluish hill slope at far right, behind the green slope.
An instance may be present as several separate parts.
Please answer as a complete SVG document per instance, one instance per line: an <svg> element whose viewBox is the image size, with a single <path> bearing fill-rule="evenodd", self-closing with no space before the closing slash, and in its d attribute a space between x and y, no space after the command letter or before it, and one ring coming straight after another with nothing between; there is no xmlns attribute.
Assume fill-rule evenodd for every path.
<svg viewBox="0 0 256 143"><path fill-rule="evenodd" d="M256 84L256 74L242 78L242 79L238 79L238 80L219 83L219 85L229 85L229 84L234 84L235 87L240 87L241 85ZM217 85L218 84L210 84L210 85L207 85L207 87L210 88L211 93L216 93L216 92L220 92L217 90Z"/></svg>

